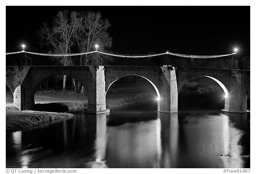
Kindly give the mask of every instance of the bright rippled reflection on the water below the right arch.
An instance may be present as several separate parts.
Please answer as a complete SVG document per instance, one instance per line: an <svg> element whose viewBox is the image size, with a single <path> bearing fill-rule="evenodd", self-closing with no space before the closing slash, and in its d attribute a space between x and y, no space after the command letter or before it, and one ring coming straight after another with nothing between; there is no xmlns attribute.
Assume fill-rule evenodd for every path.
<svg viewBox="0 0 256 174"><path fill-rule="evenodd" d="M202 112L180 121L184 141L180 151L184 162L180 167L244 167L238 145L244 133L234 127L227 115Z"/></svg>

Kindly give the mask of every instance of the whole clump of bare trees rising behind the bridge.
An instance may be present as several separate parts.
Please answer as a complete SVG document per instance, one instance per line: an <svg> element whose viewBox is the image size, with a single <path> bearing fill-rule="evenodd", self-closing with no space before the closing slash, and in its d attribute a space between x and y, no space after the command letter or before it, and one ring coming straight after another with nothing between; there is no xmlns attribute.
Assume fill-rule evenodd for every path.
<svg viewBox="0 0 256 174"><path fill-rule="evenodd" d="M79 52L89 52L94 50L94 44L100 45L100 50L108 49L112 45L112 38L108 35L110 23L107 19L102 19L100 12L68 12L67 10L58 12L53 20L52 26L43 23L39 35L42 45L47 46L54 53L71 53L71 48ZM99 65L104 57L102 55L81 55L79 65ZM111 60L110 58L104 59ZM70 57L59 58L61 66L73 65ZM80 83L76 85L73 79L73 86L80 88ZM63 91L66 90L66 76L63 77ZM83 86L81 87L83 93Z"/></svg>

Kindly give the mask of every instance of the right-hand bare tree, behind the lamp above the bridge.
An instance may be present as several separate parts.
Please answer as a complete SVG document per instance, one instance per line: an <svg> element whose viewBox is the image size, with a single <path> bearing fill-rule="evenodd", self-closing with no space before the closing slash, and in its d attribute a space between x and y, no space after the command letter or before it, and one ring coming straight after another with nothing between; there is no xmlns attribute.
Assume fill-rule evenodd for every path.
<svg viewBox="0 0 256 174"><path fill-rule="evenodd" d="M107 32L111 25L108 19L102 19L100 12L77 12L73 17L77 24L74 38L80 52L95 50L94 44L98 44L100 50L111 47L112 38ZM96 65L96 61L95 54L80 56L80 65Z"/></svg>

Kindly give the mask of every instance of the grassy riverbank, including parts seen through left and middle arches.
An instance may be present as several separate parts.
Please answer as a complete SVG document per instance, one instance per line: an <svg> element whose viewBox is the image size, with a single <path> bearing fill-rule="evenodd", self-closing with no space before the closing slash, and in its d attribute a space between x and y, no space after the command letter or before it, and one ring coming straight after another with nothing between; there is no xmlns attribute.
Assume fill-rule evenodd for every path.
<svg viewBox="0 0 256 174"><path fill-rule="evenodd" d="M107 95L106 107L113 108L126 104L139 103L153 99L151 93L138 93L130 89L128 94ZM141 92L141 91L139 91ZM19 111L12 105L12 93L6 93L6 132L20 131L36 127L54 120L71 118L72 114L63 113L72 109L87 109L88 100L84 94L73 92L62 93L55 91L41 91L35 95L35 110Z"/></svg>

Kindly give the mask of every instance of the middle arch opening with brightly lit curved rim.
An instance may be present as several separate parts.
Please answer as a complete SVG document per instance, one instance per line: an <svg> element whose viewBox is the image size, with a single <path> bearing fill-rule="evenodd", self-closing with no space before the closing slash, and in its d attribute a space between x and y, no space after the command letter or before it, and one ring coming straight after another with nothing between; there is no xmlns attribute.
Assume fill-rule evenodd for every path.
<svg viewBox="0 0 256 174"><path fill-rule="evenodd" d="M152 104L150 108L156 110L158 100L160 99L160 93L156 85L149 79L136 74L125 75L112 81L111 84L108 83L105 96L107 108L153 101L148 104ZM110 102L110 100L115 97L120 100L114 103ZM135 108L140 110L140 108L144 106L145 105L142 104L142 107L135 106Z"/></svg>

